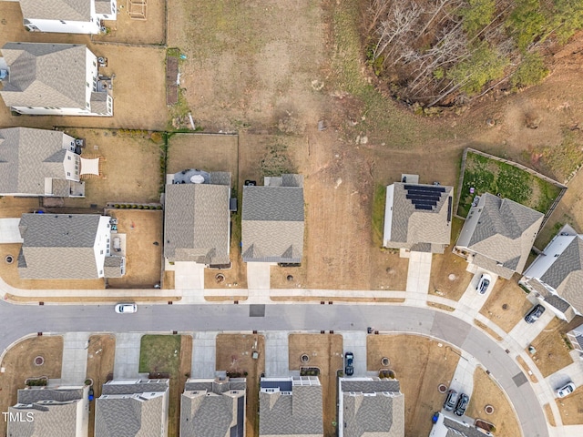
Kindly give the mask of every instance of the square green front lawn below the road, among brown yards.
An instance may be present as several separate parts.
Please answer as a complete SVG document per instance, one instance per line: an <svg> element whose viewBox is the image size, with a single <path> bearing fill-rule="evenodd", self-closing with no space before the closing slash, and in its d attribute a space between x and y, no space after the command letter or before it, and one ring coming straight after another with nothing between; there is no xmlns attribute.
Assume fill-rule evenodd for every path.
<svg viewBox="0 0 583 437"><path fill-rule="evenodd" d="M174 378L180 365L179 335L144 335L139 349L139 372L169 373Z"/></svg>

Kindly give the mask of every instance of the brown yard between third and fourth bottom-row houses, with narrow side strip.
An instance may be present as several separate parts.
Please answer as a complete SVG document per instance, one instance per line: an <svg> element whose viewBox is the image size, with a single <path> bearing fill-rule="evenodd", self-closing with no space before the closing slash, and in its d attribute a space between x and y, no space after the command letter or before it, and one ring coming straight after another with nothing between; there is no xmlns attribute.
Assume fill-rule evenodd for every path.
<svg viewBox="0 0 583 437"><path fill-rule="evenodd" d="M253 360L253 351L259 358ZM220 334L217 336L217 371L240 373L247 372L246 435L259 435L259 382L265 371L265 337L257 334ZM196 378L196 375L193 375Z"/></svg>

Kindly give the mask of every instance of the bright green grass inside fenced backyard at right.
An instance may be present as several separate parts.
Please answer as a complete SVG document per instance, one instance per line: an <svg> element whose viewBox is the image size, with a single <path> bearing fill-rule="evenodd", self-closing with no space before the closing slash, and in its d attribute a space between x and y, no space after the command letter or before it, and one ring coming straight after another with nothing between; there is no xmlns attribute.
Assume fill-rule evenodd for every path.
<svg viewBox="0 0 583 437"><path fill-rule="evenodd" d="M547 213L561 188L506 162L468 152L457 214L467 216L476 195L490 193ZM470 188L475 188L470 194Z"/></svg>

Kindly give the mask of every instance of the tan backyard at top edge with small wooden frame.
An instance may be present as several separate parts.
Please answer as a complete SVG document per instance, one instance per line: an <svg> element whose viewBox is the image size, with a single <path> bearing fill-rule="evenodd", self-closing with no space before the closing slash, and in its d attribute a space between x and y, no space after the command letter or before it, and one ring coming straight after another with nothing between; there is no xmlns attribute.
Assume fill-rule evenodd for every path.
<svg viewBox="0 0 583 437"><path fill-rule="evenodd" d="M126 0L118 1L117 19L106 20L107 34L93 36L93 40L106 43L163 45L166 41L166 2L148 0L146 20L131 19L128 5L129 2ZM134 10L138 12L141 8L134 6Z"/></svg>

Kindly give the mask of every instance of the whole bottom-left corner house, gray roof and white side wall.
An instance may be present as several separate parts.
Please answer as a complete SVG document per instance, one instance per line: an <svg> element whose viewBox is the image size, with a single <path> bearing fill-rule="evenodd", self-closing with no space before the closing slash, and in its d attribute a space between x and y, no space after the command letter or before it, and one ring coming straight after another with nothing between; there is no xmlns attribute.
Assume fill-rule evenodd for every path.
<svg viewBox="0 0 583 437"><path fill-rule="evenodd" d="M8 437L87 437L89 386L53 386L19 390L8 409Z"/></svg>

